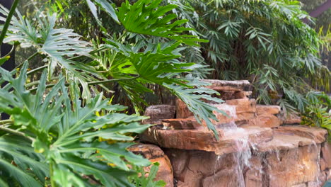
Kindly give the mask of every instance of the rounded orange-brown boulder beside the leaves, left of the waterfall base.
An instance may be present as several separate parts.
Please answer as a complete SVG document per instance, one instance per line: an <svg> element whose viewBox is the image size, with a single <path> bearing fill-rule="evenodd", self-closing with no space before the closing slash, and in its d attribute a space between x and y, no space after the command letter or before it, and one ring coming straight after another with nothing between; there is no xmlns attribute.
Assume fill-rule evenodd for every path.
<svg viewBox="0 0 331 187"><path fill-rule="evenodd" d="M158 173L156 181L163 180L167 183L166 187L173 187L173 167L170 164L168 156L156 145L137 144L129 147L129 151L134 154L140 154L150 162L158 162ZM149 172L151 166L145 167L144 170Z"/></svg>

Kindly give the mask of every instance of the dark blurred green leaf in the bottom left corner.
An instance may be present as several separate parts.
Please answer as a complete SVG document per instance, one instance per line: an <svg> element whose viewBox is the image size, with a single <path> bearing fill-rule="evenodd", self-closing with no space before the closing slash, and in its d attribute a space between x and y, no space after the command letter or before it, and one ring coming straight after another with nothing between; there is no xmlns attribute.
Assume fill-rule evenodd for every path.
<svg viewBox="0 0 331 187"><path fill-rule="evenodd" d="M43 155L35 153L26 139L15 135L0 137L0 165L0 178L10 176L22 186L42 186L40 181L45 182L45 177L50 176ZM12 186L12 181L7 180L3 178L2 183Z"/></svg>

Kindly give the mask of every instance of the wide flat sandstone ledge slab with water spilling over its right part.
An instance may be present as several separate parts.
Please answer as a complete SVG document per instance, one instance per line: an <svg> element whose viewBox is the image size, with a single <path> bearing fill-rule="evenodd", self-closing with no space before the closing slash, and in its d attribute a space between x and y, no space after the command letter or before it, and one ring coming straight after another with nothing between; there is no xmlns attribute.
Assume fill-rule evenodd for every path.
<svg viewBox="0 0 331 187"><path fill-rule="evenodd" d="M243 147L238 147L241 140L248 140L251 144L260 144L272 140L270 128L238 128L236 130L218 130L220 140L217 141L210 130L163 130L149 128L141 140L151 142L165 148L196 149L216 154L238 152Z"/></svg>

